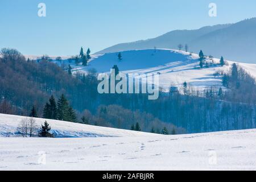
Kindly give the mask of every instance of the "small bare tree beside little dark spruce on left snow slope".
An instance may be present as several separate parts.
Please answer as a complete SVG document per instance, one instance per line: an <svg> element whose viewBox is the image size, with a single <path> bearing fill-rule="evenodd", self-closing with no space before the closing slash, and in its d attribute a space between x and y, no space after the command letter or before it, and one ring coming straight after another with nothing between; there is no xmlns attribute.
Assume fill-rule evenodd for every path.
<svg viewBox="0 0 256 182"><path fill-rule="evenodd" d="M38 134L38 126L35 123L34 118L24 118L19 123L19 127L17 128L18 133L22 135L22 137L33 137Z"/></svg>

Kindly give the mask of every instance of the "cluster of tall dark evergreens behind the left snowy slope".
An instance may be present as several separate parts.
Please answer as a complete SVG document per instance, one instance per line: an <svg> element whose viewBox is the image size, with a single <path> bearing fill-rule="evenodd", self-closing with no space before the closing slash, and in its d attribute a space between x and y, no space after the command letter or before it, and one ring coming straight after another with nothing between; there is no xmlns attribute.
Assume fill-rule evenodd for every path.
<svg viewBox="0 0 256 182"><path fill-rule="evenodd" d="M43 109L43 118L77 122L75 110L69 105L64 94L60 96L57 104L53 96L49 98L49 102L46 103Z"/></svg>

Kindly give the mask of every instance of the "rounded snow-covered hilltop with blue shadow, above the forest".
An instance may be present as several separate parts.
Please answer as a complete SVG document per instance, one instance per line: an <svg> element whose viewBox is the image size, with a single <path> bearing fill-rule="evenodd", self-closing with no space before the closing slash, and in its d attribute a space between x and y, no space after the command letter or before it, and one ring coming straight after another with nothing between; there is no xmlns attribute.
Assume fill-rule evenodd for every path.
<svg viewBox="0 0 256 182"><path fill-rule="evenodd" d="M195 53L177 51L174 49L144 49L121 52L122 60L118 60L118 52L93 55L88 67L72 65L73 72L86 72L95 68L98 73L109 72L113 65L117 65L124 73L155 73L159 74L159 86L168 91L170 86L180 87L185 81L193 88L204 89L220 87L221 76L214 77L216 72L228 72L233 61L226 61L228 65L220 67L212 65L200 69L199 56ZM225 57L224 57L225 59ZM207 58L208 63L219 64L220 59ZM240 67L256 77L256 64L237 63Z"/></svg>

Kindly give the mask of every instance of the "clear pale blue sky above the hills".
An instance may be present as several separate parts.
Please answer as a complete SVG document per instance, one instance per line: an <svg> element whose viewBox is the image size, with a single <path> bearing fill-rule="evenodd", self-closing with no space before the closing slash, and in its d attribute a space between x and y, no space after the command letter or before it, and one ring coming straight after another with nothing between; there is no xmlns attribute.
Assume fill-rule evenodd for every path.
<svg viewBox="0 0 256 182"><path fill-rule="evenodd" d="M38 4L46 3L46 17ZM217 4L210 18L208 5ZM0 48L26 55L76 55L171 30L234 23L256 16L255 0L1 0Z"/></svg>

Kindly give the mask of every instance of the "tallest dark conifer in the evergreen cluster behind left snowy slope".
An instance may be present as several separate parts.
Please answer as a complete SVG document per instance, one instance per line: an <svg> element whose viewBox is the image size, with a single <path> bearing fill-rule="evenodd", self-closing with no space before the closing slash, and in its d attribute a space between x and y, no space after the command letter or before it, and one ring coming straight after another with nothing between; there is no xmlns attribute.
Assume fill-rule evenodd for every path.
<svg viewBox="0 0 256 182"><path fill-rule="evenodd" d="M57 119L66 121L68 119L69 105L68 101L62 94L57 101Z"/></svg>

